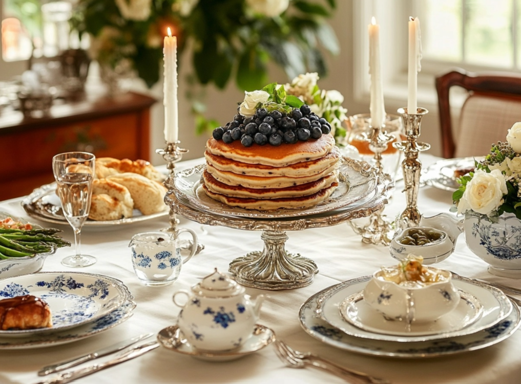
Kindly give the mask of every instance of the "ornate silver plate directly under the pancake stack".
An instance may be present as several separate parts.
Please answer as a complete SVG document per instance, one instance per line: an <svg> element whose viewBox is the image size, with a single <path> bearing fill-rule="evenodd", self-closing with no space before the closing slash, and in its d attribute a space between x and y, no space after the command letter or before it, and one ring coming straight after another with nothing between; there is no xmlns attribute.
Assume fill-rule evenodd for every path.
<svg viewBox="0 0 521 384"><path fill-rule="evenodd" d="M343 163L339 168L339 186L327 201L306 209L257 211L230 207L206 195L201 182L201 175L205 168L206 164L200 164L197 167L177 173L174 180L176 197L187 200L192 207L207 212L227 216L251 217L252 219L271 219L274 215L277 218L309 216L329 212L351 206L351 204L373 193L376 188L376 169L370 167L368 163L343 158Z"/></svg>

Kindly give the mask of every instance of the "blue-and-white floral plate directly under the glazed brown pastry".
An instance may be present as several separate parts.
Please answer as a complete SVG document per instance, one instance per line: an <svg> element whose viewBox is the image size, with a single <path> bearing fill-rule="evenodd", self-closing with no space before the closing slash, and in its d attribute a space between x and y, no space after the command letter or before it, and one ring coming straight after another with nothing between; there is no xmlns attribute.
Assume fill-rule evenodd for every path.
<svg viewBox="0 0 521 384"><path fill-rule="evenodd" d="M95 321L133 297L119 280L90 273L43 272L0 280L0 299L33 295L49 305L51 328L0 330L0 337L45 334Z"/></svg>

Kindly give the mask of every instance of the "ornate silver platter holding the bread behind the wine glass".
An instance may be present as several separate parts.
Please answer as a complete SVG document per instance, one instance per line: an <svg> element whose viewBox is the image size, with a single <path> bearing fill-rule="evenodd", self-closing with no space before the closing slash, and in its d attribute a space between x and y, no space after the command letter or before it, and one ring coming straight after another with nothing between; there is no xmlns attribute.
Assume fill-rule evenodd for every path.
<svg viewBox="0 0 521 384"><path fill-rule="evenodd" d="M58 195L56 195L56 183L46 184L36 188L33 192L22 200L22 207L27 214L34 219L53 224L69 225L63 212ZM84 226L113 226L120 224L138 223L140 221L155 219L168 215L168 210L143 215L139 210L134 209L133 217L120 220L94 221L86 220Z"/></svg>

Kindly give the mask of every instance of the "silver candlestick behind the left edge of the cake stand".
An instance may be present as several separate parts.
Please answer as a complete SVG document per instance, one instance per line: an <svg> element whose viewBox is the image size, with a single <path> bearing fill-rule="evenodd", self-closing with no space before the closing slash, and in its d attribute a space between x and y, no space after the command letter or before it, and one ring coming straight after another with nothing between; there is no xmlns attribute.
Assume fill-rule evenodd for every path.
<svg viewBox="0 0 521 384"><path fill-rule="evenodd" d="M180 148L179 144L181 144L181 142L179 140L176 140L176 142L174 142L174 143L166 143L166 147L164 149L156 149L156 153L158 155L163 156L163 159L165 159L165 161L166 161L166 168L168 169L168 177L163 182L163 185L168 190L175 189L174 179L176 177L176 163L181 161L181 159L183 158L183 154L188 153L188 151L189 151L188 149ZM177 237L179 234L178 233L179 219L177 218L176 213L173 211L172 208L170 208L170 211L169 211L168 223L170 224L170 226L167 228L161 229L161 231L175 234L174 237ZM183 251L183 250L190 251L193 247L193 241L192 240L180 240L179 245L180 245L181 251ZM204 249L204 245L200 243L197 246L196 253L201 252L203 249Z"/></svg>

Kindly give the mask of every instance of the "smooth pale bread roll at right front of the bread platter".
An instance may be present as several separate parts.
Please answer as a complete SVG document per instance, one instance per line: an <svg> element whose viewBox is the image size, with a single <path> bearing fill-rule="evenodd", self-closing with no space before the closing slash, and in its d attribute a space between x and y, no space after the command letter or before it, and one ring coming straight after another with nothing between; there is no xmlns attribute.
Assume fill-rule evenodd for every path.
<svg viewBox="0 0 521 384"><path fill-rule="evenodd" d="M130 172L110 175L107 179L127 187L134 200L134 208L139 209L144 215L161 212L167 208L164 202L167 189L161 183Z"/></svg>

